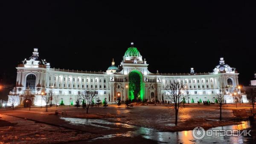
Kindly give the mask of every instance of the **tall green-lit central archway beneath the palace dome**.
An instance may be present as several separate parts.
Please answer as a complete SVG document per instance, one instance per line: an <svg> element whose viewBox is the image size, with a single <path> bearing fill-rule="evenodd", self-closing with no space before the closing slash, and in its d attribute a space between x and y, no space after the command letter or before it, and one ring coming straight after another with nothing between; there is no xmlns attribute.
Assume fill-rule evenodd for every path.
<svg viewBox="0 0 256 144"><path fill-rule="evenodd" d="M135 69L129 74L129 99L141 101L144 99L143 75Z"/></svg>

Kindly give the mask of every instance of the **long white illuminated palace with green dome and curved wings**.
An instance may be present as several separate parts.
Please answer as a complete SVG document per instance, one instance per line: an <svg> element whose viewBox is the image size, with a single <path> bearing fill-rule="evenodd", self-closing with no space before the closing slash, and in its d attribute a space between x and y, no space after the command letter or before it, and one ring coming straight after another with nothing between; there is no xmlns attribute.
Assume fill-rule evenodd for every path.
<svg viewBox="0 0 256 144"><path fill-rule="evenodd" d="M25 104L26 92L31 92L32 104L36 106L45 104L42 95L49 92L53 97L58 95L65 105L75 104L81 92L87 90L96 91L97 97L101 100L107 98L110 102L126 99L164 101L168 94L166 86L172 81L186 85L189 92L189 99L186 98L186 101L189 102L192 99L195 103L200 99L214 102L220 89L227 103L235 100L247 102L246 95L240 93L239 73L224 63L224 58L220 58L213 72L197 73L191 68L189 73L160 74L158 71L148 71L148 63L133 43L126 50L120 65L116 66L113 60L106 72L51 68L50 63L39 59L38 54L38 49L35 48L32 56L17 66L16 87L9 94L9 98L12 95L20 96L16 105Z"/></svg>

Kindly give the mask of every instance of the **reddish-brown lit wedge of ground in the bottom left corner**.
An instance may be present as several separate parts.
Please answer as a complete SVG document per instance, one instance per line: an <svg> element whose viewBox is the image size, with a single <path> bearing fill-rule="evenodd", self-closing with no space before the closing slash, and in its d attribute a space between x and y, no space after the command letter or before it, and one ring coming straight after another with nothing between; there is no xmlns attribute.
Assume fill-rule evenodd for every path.
<svg viewBox="0 0 256 144"><path fill-rule="evenodd" d="M67 130L8 115L0 115L0 144L46 144L87 140L100 135Z"/></svg>

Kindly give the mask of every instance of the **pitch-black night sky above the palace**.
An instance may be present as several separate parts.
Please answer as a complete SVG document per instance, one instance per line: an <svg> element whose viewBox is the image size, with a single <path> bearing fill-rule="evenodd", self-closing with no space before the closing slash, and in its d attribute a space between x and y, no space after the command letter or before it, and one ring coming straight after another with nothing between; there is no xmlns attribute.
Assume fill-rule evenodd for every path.
<svg viewBox="0 0 256 144"><path fill-rule="evenodd" d="M0 1L0 77L15 84L34 47L52 67L105 71L133 41L154 73L212 72L224 57L242 84L253 78L254 4L138 1Z"/></svg>

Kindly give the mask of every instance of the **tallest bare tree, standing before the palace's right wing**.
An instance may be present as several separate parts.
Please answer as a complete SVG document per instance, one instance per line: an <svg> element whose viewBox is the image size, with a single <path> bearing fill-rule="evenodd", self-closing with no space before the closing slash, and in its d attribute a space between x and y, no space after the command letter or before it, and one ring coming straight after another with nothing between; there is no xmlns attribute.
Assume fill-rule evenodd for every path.
<svg viewBox="0 0 256 144"><path fill-rule="evenodd" d="M171 108L175 110L175 125L178 123L178 112L180 105L183 103L183 93L185 92L185 85L179 81L173 81L166 86L167 94L165 98L170 100ZM185 96L186 97L186 96ZM168 106L167 106L168 107Z"/></svg>

